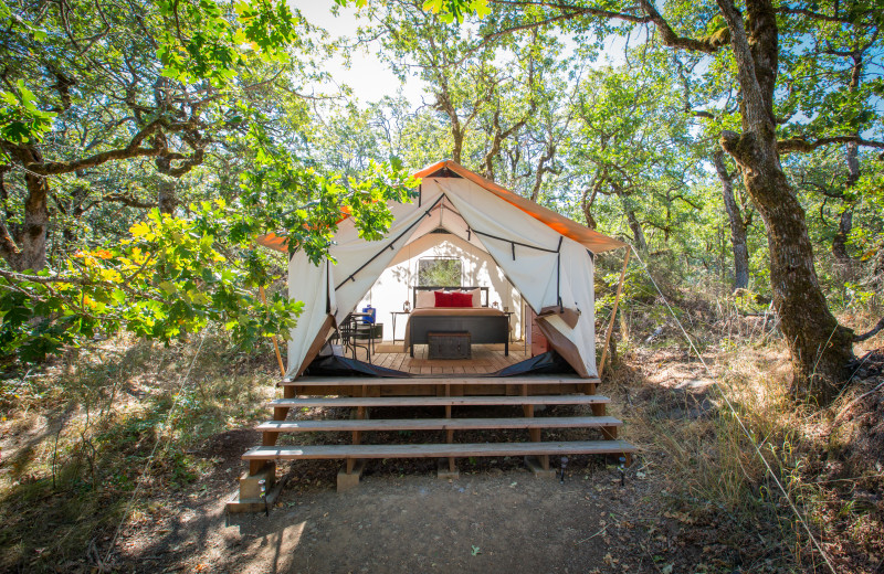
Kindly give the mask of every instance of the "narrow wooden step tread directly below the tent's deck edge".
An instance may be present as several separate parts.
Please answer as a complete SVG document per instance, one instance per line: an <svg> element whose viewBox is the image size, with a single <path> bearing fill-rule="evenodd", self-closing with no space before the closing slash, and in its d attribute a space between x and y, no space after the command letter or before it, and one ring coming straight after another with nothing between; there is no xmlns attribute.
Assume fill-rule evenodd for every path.
<svg viewBox="0 0 884 574"><path fill-rule="evenodd" d="M530 396L336 396L322 398L276 398L269 406L464 406L464 405L590 405L610 403L602 395Z"/></svg>

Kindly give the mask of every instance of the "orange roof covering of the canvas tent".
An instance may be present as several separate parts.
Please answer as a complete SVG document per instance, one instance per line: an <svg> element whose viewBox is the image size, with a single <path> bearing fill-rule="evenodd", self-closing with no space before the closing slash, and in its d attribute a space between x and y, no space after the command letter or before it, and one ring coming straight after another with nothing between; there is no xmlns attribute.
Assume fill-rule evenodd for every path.
<svg viewBox="0 0 884 574"><path fill-rule="evenodd" d="M586 225L581 225L576 221L569 220L568 217L556 213L555 211L548 210L543 205L539 205L532 200L525 199L518 193L514 193L501 185L494 183L491 180L483 178L477 173L473 173L469 169L464 168L460 163L452 161L450 159L439 161L431 166L423 168L422 170L414 173L415 178L431 178L434 173L439 171L449 171L460 176L464 179L467 179L475 183L476 185L485 189L486 191L495 194L496 196L501 198L505 202L514 205L525 212L526 214L530 215L535 220L546 224L551 230L569 237L586 248L591 251L592 253L602 253L606 251L617 249L619 247L625 247L627 244L614 240L613 237L608 237L607 235L602 235L596 231L590 230ZM262 235L257 237L257 243L263 245L264 247L270 247L272 249L287 252L286 247L286 238L275 233L270 233L266 235Z"/></svg>

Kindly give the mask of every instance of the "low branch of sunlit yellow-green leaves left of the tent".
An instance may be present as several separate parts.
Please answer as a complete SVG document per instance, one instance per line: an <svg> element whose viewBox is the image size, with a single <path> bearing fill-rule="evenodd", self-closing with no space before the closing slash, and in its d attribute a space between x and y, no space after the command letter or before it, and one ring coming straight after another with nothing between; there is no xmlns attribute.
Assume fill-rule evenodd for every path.
<svg viewBox="0 0 884 574"><path fill-rule="evenodd" d="M32 362L98 332L170 341L209 323L245 347L286 338L303 302L278 294L261 302L257 286L275 278L266 254L227 241L241 214L222 202L190 210L189 219L154 210L129 238L78 251L56 273L0 278L0 351Z"/></svg>

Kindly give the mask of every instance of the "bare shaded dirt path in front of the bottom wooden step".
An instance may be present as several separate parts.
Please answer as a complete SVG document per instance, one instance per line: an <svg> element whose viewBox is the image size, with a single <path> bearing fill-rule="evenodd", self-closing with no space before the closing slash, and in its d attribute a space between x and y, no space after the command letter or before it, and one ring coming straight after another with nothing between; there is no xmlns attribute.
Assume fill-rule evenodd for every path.
<svg viewBox="0 0 884 574"><path fill-rule="evenodd" d="M161 529L179 533L165 551L126 559L149 572L657 572L642 550L660 529L654 486L621 487L615 468L564 485L527 470L370 476L346 493L286 489L270 518L225 523L221 502L183 513Z"/></svg>

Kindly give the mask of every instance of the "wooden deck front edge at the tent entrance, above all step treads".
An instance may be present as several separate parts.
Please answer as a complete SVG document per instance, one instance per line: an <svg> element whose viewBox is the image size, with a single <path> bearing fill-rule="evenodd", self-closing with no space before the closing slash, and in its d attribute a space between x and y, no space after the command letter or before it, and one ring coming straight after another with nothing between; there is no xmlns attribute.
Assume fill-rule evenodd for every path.
<svg viewBox="0 0 884 574"><path fill-rule="evenodd" d="M304 376L301 379L283 380L280 386L401 386L401 385L444 385L444 384L586 384L598 383L598 379L580 379L568 374L535 375L535 376L409 376L402 379L387 379L382 376Z"/></svg>

